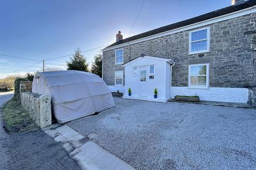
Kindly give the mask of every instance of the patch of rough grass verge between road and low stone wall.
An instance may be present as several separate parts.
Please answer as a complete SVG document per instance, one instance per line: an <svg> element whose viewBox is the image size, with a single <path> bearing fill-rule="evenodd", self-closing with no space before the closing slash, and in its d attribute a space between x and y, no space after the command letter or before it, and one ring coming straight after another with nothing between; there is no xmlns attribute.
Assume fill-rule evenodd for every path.
<svg viewBox="0 0 256 170"><path fill-rule="evenodd" d="M2 115L5 130L10 133L34 131L39 129L19 101L11 99L3 106Z"/></svg>

